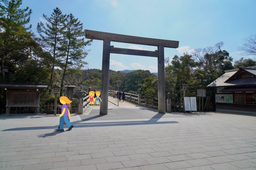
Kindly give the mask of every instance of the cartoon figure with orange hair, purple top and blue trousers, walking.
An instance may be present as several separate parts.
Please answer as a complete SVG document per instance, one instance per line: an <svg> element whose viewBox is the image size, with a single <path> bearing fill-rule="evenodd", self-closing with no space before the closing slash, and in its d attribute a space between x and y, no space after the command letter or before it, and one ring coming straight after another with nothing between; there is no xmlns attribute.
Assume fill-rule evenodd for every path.
<svg viewBox="0 0 256 170"><path fill-rule="evenodd" d="M59 101L63 105L61 108L61 114L59 115L59 117L61 117L61 119L59 120L59 129L57 129L56 131L60 131L60 132L64 131L64 129L63 129L64 122L69 126L67 131L70 131L74 126L69 122L68 117L70 117L70 112L69 112L66 104L69 104L72 101L70 101L66 96L61 96L59 98Z"/></svg>

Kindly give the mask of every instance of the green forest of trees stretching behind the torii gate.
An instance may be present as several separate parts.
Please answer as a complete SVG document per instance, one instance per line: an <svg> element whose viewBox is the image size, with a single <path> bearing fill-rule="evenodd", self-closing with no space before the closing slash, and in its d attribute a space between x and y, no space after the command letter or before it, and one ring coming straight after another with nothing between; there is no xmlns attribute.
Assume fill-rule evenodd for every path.
<svg viewBox="0 0 256 170"><path fill-rule="evenodd" d="M50 16L42 14L46 23L37 24L37 36L31 31L29 7L20 9L22 0L1 0L0 3L0 82L51 84L49 90L41 93L41 104L53 101L52 88L60 87L64 94L65 85L101 88L101 70L83 69L88 64L86 56L90 52L92 40L85 40L82 23L72 14L62 14L59 8L53 9ZM250 50L251 36L241 50ZM248 44L247 44L248 43ZM253 43L252 43L253 44ZM187 84L187 96L196 96L197 89L224 74L225 70L255 66L256 61L241 57L233 61L229 52L223 49L224 42L211 47L198 48L192 54L168 56L165 58L165 90L171 93L174 103L181 104L182 84ZM251 53L248 53L248 55ZM8 68L8 72L3 71ZM120 90L157 98L157 76L148 70L135 70L129 73L110 70L109 87L117 90L116 81L121 81ZM197 78L206 78L200 82ZM207 89L207 96L214 101L213 89ZM167 97L167 96L166 96ZM0 90L0 113L4 113L6 91ZM214 103L211 102L212 109Z"/></svg>

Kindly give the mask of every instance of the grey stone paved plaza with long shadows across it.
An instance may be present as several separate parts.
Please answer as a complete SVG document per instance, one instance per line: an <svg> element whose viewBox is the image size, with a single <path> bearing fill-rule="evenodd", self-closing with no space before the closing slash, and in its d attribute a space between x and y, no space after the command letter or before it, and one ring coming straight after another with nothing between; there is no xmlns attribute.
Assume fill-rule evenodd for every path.
<svg viewBox="0 0 256 170"><path fill-rule="evenodd" d="M158 114L120 102L70 120L72 131L54 132L58 115L0 116L0 170L256 170L253 115Z"/></svg>

